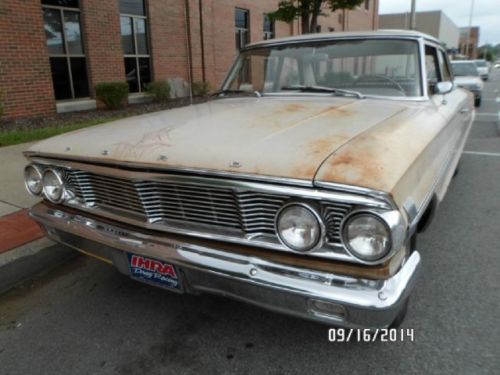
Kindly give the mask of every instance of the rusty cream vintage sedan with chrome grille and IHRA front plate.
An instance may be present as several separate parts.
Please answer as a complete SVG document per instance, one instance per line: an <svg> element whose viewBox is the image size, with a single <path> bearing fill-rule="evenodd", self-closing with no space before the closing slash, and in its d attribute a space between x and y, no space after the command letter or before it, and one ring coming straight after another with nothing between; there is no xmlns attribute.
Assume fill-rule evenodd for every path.
<svg viewBox="0 0 500 375"><path fill-rule="evenodd" d="M248 45L207 103L28 150L47 235L142 282L344 327L403 320L470 130L432 37ZM426 249L432 251L433 249Z"/></svg>

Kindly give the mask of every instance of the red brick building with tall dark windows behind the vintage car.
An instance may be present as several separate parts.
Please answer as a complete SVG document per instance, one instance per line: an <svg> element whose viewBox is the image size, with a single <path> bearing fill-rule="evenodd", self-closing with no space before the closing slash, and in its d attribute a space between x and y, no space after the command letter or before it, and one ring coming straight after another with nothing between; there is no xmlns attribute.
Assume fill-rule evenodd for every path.
<svg viewBox="0 0 500 375"><path fill-rule="evenodd" d="M378 1L320 17L317 32L378 28ZM127 81L130 101L169 80L217 87L240 46L300 33L272 23L279 0L1 0L5 118L95 108L99 82Z"/></svg>

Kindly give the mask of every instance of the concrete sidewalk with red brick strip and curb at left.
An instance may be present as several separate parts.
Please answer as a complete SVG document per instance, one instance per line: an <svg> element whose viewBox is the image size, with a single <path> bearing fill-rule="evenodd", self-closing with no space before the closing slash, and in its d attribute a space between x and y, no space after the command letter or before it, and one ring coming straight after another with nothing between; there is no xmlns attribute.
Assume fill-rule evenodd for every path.
<svg viewBox="0 0 500 375"><path fill-rule="evenodd" d="M40 201L24 188L22 152L30 145L0 147L0 293L74 256L45 238L28 216L29 207Z"/></svg>

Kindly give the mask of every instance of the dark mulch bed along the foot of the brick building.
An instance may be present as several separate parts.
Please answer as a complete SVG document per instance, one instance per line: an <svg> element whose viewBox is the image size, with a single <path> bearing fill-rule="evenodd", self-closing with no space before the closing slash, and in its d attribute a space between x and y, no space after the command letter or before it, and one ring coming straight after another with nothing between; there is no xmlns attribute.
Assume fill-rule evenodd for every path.
<svg viewBox="0 0 500 375"><path fill-rule="evenodd" d="M195 97L193 104L203 103L207 98ZM184 107L190 104L189 98L172 99L165 103L140 103L129 105L123 109L108 110L96 109L83 112L69 112L60 113L54 116L36 117L36 118L23 118L14 120L0 119L0 132L18 131L18 130L31 130L46 127L63 127L73 124L78 124L85 121L112 119L116 117L129 117L141 115L144 113L162 111L165 109L172 109Z"/></svg>

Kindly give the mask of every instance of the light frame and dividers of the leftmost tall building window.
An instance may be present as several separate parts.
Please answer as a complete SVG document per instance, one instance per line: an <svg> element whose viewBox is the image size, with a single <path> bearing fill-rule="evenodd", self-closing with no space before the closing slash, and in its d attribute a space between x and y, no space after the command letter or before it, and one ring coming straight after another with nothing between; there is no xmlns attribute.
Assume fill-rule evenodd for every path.
<svg viewBox="0 0 500 375"><path fill-rule="evenodd" d="M78 4L80 6L80 3ZM64 47L64 51L65 53L50 53L50 51L48 51L48 47L47 47L47 52L48 52L48 55L49 55L49 61L51 58L64 58L66 60L66 66L67 66L67 69L68 69L68 75L69 75L69 85L70 85L70 91L71 91L71 98L70 99L58 99L57 101L62 101L62 100L78 100L78 99L86 99L86 98L90 98L90 76L89 76L89 66L87 64L87 55L86 55L86 48L85 48L85 32L83 30L83 27L82 27L82 12L81 12L81 9L80 7L76 8L76 7L65 7L65 6L59 6L59 5L46 5L46 4L41 4L42 6L42 16L43 16L43 12L45 11L45 9L52 9L52 10L55 10L59 13L59 17L60 17L60 20L61 20L61 35L62 35L62 38L63 38L63 47ZM80 16L79 16L79 23L80 23L80 39L81 39L81 43L82 43L82 54L73 54L73 53L70 53L69 52L69 47L68 47L68 38L66 36L66 28L64 27L65 25L65 21L64 21L64 12L77 12ZM45 19L44 19L44 22L43 22L43 25L44 25L44 28L45 28ZM89 95L87 96L80 96L80 97L76 97L75 96L75 84L74 84L74 80L73 80L73 70L71 69L71 58L84 58L85 59L85 70L86 70L86 74L87 74L87 90L88 90L88 93ZM52 84L54 85L54 82L52 82ZM54 91L54 96L56 95L55 91Z"/></svg>

